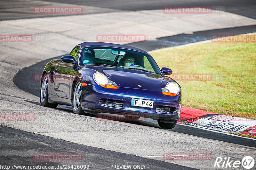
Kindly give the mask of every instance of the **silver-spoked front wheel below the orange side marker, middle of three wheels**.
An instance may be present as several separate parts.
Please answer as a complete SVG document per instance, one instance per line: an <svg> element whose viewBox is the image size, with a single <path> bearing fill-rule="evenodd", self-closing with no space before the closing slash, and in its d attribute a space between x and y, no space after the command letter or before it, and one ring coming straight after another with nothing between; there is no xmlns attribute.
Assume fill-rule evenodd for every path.
<svg viewBox="0 0 256 170"><path fill-rule="evenodd" d="M80 81L76 82L76 86L73 92L73 112L79 115L84 114L82 110L82 85Z"/></svg>

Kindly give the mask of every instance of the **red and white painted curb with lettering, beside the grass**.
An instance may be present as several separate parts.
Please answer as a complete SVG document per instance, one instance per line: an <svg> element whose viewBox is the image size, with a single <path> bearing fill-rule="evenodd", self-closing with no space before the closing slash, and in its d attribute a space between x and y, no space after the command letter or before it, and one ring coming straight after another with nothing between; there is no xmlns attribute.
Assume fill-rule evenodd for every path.
<svg viewBox="0 0 256 170"><path fill-rule="evenodd" d="M227 116L185 106L181 107L178 123L215 131L256 136L256 120Z"/></svg>

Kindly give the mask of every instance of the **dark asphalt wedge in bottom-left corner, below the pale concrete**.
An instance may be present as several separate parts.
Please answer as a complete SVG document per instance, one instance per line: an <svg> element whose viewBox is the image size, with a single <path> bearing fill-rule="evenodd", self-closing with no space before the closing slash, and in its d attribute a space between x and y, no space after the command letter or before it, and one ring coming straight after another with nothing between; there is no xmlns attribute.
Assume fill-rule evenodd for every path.
<svg viewBox="0 0 256 170"><path fill-rule="evenodd" d="M17 161L20 162L19 165L21 166L34 165L35 160L33 156L31 156L33 153L28 150L28 148L30 148L37 149L39 152L81 153L83 160L79 162L79 164L89 164L90 169L109 169L108 166L115 165L116 162L126 165L146 165L146 169L193 169L163 161L79 145L5 126L0 126L0 135L3 138L1 140L0 162L6 162L8 166L12 166L17 163ZM16 146L15 148L13 147L14 145ZM12 152L12 155L4 156L6 152ZM45 165L47 163L47 161L41 161L38 165ZM72 161L63 161L61 164L72 164ZM56 161L48 163L49 166L58 166L61 164Z"/></svg>

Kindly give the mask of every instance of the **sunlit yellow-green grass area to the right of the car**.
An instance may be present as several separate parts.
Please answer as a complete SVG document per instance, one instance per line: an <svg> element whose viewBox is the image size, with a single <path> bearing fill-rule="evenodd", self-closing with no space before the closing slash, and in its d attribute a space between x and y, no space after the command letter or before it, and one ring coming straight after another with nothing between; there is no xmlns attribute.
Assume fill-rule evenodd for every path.
<svg viewBox="0 0 256 170"><path fill-rule="evenodd" d="M208 42L151 55L160 68L172 69L170 77L212 76L210 81L177 80L183 106L256 119L256 43Z"/></svg>

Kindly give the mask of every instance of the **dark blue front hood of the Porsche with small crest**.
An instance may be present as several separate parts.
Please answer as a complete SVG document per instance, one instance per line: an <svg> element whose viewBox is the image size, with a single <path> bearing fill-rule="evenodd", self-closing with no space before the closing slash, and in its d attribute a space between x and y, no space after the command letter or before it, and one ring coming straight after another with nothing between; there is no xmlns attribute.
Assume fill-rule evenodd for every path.
<svg viewBox="0 0 256 170"><path fill-rule="evenodd" d="M132 69L104 69L102 70L118 87L147 89L161 91L164 77L160 74L152 74Z"/></svg>

